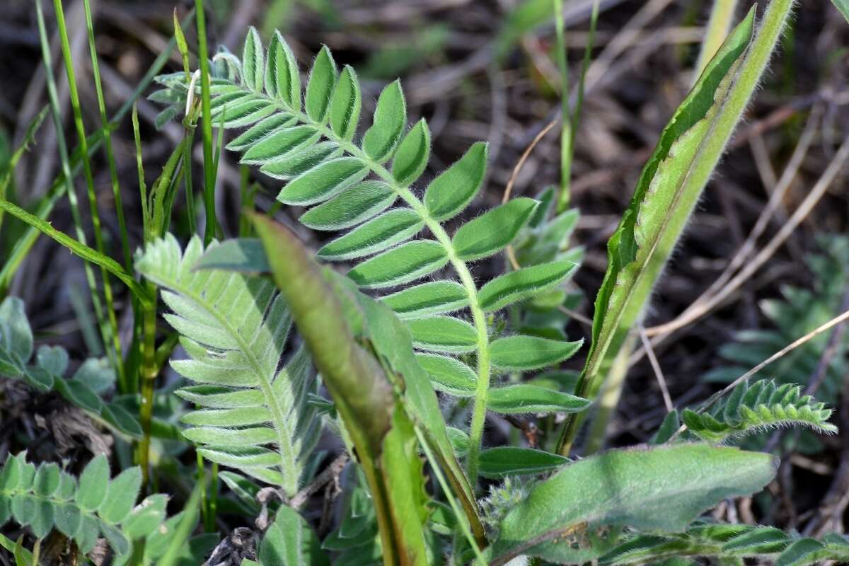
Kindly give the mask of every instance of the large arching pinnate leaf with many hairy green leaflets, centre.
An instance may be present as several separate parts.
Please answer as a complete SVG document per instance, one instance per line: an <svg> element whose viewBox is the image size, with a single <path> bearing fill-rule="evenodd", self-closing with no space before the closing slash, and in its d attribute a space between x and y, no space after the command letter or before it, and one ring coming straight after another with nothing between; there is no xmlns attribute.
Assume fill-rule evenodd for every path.
<svg viewBox="0 0 849 566"><path fill-rule="evenodd" d="M314 60L303 97L295 58L279 33L263 51L251 28L241 60L221 50L214 63L213 123L250 126L228 149L241 153L243 164L286 182L280 202L312 206L301 216L307 227L347 230L318 250L319 259L357 261L348 277L363 289L403 287L382 300L415 321L410 329L424 365L439 367L439 372L431 371L436 388L456 395L452 384L462 381L475 398L467 466L474 481L492 373L553 365L580 345L530 336L520 342L491 337L486 320L487 311L559 285L570 275L571 262L511 272L483 289L470 270L471 261L495 255L514 241L537 201L510 200L451 235L443 223L458 216L483 184L485 143L472 145L419 197L412 186L428 163L430 132L425 120L405 132L406 104L398 81L380 93L372 125L355 143L362 105L357 74L350 66L338 72L328 48ZM166 112L173 113L187 95L184 74L159 81L166 89L153 98L171 104ZM408 286L446 266L456 279ZM452 314L462 309L468 309L469 322ZM453 356L462 352L475 355L476 371Z"/></svg>

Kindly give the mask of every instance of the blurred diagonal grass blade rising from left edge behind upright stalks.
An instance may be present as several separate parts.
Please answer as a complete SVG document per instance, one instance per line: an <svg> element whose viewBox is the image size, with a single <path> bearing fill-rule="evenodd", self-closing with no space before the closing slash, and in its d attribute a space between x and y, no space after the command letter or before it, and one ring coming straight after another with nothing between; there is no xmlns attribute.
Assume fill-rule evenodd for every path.
<svg viewBox="0 0 849 566"><path fill-rule="evenodd" d="M183 20L183 25L188 25L193 17L194 10ZM127 101L125 101L124 104L121 105L121 108L115 112L115 115L112 116L112 120L110 120L109 124L110 128L115 128L121 123L127 115L127 112L129 112L132 108L132 105L138 100L138 97L140 97L142 92L150 86L154 77L160 74L161 70L168 62L168 59L171 59L171 52L175 45L177 45L177 41L174 38L171 38L168 46L162 51L162 53L159 54L159 56L157 56L154 63L150 65L150 68L142 77L142 80L139 81L138 85L133 90L132 95L127 98ZM103 130L100 129L97 132L94 132L89 137L88 142L88 155L93 155L94 152L100 148L100 144L103 143ZM73 177L76 177L76 175L79 174L80 169L82 169L82 153L79 151L79 148L75 148L74 151L70 153L70 156L70 175L65 175L64 172L60 173L59 176L53 180L53 184L50 186L48 195L42 198L37 205L37 210L35 211L34 216L36 216L39 220L46 220L48 216L50 216L50 213L53 212L53 207L57 202L59 202L59 199L65 195L65 177L73 179ZM4 289L8 288L8 284L12 281L12 277L14 277L15 272L18 271L18 268L20 267L21 262L24 261L26 255L30 253L32 246L36 243L40 234L41 232L39 232L37 228L29 227L24 236L15 242L12 254L9 255L7 261L3 263L3 267L0 268L0 293L2 293Z"/></svg>

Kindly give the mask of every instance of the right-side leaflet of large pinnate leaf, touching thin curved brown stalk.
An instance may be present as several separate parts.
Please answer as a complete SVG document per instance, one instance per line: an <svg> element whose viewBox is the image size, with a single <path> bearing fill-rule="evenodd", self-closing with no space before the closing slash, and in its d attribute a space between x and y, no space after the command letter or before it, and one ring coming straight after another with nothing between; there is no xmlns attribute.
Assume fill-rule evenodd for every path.
<svg viewBox="0 0 849 566"><path fill-rule="evenodd" d="M520 197L466 222L452 240L456 254L469 261L497 253L513 241L536 206L536 200Z"/></svg>

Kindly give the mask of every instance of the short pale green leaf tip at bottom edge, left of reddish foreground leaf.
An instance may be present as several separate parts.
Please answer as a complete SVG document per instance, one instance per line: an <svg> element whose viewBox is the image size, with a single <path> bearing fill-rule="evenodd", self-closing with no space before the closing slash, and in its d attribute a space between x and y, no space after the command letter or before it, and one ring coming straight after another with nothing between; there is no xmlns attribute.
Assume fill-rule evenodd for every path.
<svg viewBox="0 0 849 566"><path fill-rule="evenodd" d="M329 566L321 542L304 518L291 507L281 506L259 545L260 566L310 564Z"/></svg>

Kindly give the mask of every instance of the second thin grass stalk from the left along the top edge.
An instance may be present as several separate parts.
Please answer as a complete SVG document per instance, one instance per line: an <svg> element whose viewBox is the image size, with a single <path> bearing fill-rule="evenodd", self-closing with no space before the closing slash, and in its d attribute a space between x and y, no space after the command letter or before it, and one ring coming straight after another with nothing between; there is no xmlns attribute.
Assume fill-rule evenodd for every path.
<svg viewBox="0 0 849 566"><path fill-rule="evenodd" d="M86 178L88 205L92 215L92 226L94 228L94 242L97 250L101 254L105 254L103 231L100 227L100 213L98 211L97 195L94 191L94 177L92 173L92 164L88 156L88 140L86 137L86 128L82 123L82 105L80 104L80 94L76 90L76 73L74 72L74 61L70 53L70 41L68 39L68 30L65 25L65 10L62 8L62 0L53 0L53 8L56 11L56 24L59 27L59 39L62 44L62 56L65 59L65 75L68 78L68 93L70 95L70 106L74 114L74 125L76 126L76 135L79 139L80 149L82 151L82 171ZM104 132L104 139L106 133ZM108 320L109 333L107 336L106 350L110 352L112 364L115 367L115 373L118 378L118 390L121 393L126 393L127 377L124 372L123 355L121 354L121 339L118 336L118 320L115 317L115 301L112 298L112 283L110 282L109 272L101 267L100 275L103 280L105 312ZM111 348L111 350L110 350Z"/></svg>

